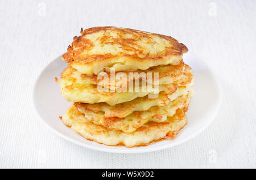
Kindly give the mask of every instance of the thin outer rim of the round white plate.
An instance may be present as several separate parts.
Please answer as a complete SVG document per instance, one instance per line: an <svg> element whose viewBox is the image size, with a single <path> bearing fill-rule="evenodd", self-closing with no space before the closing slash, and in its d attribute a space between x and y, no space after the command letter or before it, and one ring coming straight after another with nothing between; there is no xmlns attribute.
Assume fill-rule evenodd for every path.
<svg viewBox="0 0 256 180"><path fill-rule="evenodd" d="M36 108L36 102L35 102L35 91L36 91L36 85L38 84L38 81L40 79L40 77L43 75L43 72L46 70L46 68L51 65L51 63L53 61L55 61L55 59L59 58L60 56L56 57L53 59L53 61L49 62L44 68L43 70L40 72L40 74L36 77L35 79L35 82L34 82L34 85L33 85L33 89L32 89L32 104L33 104L33 108L36 112L36 114L38 114L38 117L41 119L41 122L44 123L44 125L46 125L48 128L50 128L53 132L55 132L55 134L61 136L62 138L72 142L72 143L75 143L77 145L80 145L82 147L85 147L85 148L88 148L88 149L93 149L93 150L96 150L96 151L100 151L100 152L108 152L108 153L129 153L129 154L133 154L133 153L146 153L146 152L153 152L153 151L160 151L160 150L163 150L163 149L167 149L167 148L171 148L171 147L175 147L176 145L180 145L180 144L183 144L185 142L187 142L188 140L190 139L193 139L195 138L195 136L201 134L201 132L203 132L205 130L205 128L207 128L210 123L213 122L213 120L216 118L219 110L220 110L220 105L221 105L221 101L222 101L222 91L221 91L221 88L220 88L220 83L218 82L217 78L216 78L216 75L214 75L212 69L207 65L206 62L204 62L201 58L197 57L197 55L191 53L191 52L188 52L187 54L191 54L192 56L196 57L197 59L200 60L201 63L204 63L204 65L208 68L209 70L209 73L212 75L212 78L214 80L214 82L216 83L216 87L217 87L217 94L218 94L218 100L216 101L216 110L215 112L212 114L211 118L209 119L209 121L207 123L205 123L204 126L202 126L200 128L200 130L198 131L195 131L193 134L187 136L187 138L184 138L182 140L179 140L175 143L171 143L171 144L164 144L164 145L161 145L160 147L151 147L151 148L147 148L147 149L136 149L136 147L134 148L126 148L126 149L109 149L109 148L104 148L104 147L96 147L94 145L90 145L90 144L84 144L84 143L81 143L79 142L78 140L75 140L75 139L72 139L72 138L69 138L68 135L65 135L57 130L55 130L55 128L51 127L50 125L48 125L48 123L46 121L44 121L43 117L40 115L38 109ZM87 139L85 139L87 140ZM89 140L88 140L89 141ZM105 144L103 144L105 145ZM108 146L108 145L105 145L105 146ZM148 147L150 147L150 145L148 145Z"/></svg>

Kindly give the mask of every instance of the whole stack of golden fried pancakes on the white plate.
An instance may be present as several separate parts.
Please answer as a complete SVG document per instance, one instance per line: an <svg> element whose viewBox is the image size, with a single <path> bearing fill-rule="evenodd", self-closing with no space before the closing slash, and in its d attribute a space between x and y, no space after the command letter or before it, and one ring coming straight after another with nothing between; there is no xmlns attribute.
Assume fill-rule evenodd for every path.
<svg viewBox="0 0 256 180"><path fill-rule="evenodd" d="M61 94L73 102L62 117L64 124L106 145L134 147L173 139L187 124L185 112L193 92L191 67L182 58L187 51L174 38L155 33L115 27L81 29L81 36L73 38L63 55L68 67L61 80L56 79ZM114 78L102 84L112 70ZM118 79L118 72L126 77L131 72L152 76L151 81L143 76ZM124 90L134 90L135 82L137 91ZM157 94L153 88L143 91L145 84L158 87ZM117 91L120 87L122 91Z"/></svg>

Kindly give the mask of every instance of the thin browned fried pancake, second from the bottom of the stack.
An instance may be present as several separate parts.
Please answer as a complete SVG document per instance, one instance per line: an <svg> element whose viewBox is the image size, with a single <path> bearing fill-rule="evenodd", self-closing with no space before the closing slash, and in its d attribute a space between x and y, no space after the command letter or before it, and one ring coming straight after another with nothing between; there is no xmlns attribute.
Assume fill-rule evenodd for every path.
<svg viewBox="0 0 256 180"><path fill-rule="evenodd" d="M92 121L95 125L101 125L109 130L121 130L133 132L147 122L164 122L167 117L172 117L177 109L187 109L190 102L190 94L177 97L166 106L152 106L145 111L135 111L123 118L106 118L104 112L93 112L83 106L78 106L79 111L84 115L86 121ZM76 105L75 105L76 106Z"/></svg>

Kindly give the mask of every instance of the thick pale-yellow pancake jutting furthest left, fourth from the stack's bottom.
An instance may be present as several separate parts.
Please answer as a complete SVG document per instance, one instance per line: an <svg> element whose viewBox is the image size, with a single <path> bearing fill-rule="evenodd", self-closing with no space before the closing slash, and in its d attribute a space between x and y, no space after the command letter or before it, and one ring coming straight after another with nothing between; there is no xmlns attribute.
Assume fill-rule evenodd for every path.
<svg viewBox="0 0 256 180"><path fill-rule="evenodd" d="M84 103L97 103L106 102L109 105L115 105L122 102L134 100L137 97L154 94L154 89L147 89L146 92L142 91L142 86L139 92L100 92L97 85L90 84L81 76L72 76L73 71L61 76L61 81L56 78L56 82L60 84L61 95L68 101L84 102ZM165 91L166 93L174 93L177 87L181 85L191 85L193 83L193 75L185 73L178 80L179 84L160 84L159 92Z"/></svg>

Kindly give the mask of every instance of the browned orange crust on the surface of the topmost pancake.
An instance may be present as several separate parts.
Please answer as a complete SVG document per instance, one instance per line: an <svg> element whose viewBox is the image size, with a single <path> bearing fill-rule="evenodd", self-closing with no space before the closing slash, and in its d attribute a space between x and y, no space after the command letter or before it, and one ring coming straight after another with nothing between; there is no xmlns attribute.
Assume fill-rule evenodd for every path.
<svg viewBox="0 0 256 180"><path fill-rule="evenodd" d="M92 54L92 55L84 55L83 52L88 51L93 48L93 42L89 39L85 38L86 35L90 35L96 32L100 31L107 31L108 29L111 29L112 31L115 31L120 36L119 38L112 38L111 42L105 42L105 36L101 37L101 42L106 44L119 44L121 45L122 49L135 51L135 54ZM122 38L123 34L132 34L133 38ZM167 41L170 41L172 46L166 47L165 50L162 52L159 52L158 54L144 54L144 57L139 57L138 54L143 54L143 49L135 49L133 47L134 45L134 39L147 37L151 38L149 35L156 35L159 37L162 37L166 39ZM183 53L187 53L188 49L184 44L179 43L175 38L171 36L165 36L165 35L159 35L156 33L150 33L138 31L135 29L129 29L129 28L117 28L117 27L94 27L82 30L81 29L81 36L77 37L75 36L73 38L73 42L71 46L68 46L68 51L65 53L62 58L65 62L71 63L75 61L78 64L86 65L89 63L93 63L95 61L104 61L105 59L112 59L117 57L126 57L131 59L137 59L138 61L143 61L145 59L147 60L155 60L163 59L163 57L168 57L171 55L182 55Z"/></svg>

